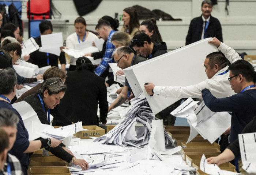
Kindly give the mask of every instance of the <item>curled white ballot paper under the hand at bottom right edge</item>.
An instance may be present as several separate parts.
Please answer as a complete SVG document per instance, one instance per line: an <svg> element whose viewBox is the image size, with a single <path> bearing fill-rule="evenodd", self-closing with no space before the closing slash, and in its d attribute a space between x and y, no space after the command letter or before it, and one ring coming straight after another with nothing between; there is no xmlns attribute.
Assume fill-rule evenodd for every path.
<svg viewBox="0 0 256 175"><path fill-rule="evenodd" d="M208 164L207 159L205 155L202 155L201 161L200 161L200 170L210 174L210 175L238 175L240 173L232 172L232 171L226 171L221 170L217 164Z"/></svg>

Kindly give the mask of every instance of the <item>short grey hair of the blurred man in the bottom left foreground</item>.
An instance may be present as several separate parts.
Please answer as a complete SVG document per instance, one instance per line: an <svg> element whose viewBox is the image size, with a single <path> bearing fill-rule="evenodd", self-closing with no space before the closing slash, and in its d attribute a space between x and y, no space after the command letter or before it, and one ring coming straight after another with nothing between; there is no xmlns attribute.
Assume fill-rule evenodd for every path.
<svg viewBox="0 0 256 175"><path fill-rule="evenodd" d="M14 111L7 108L0 108L0 127L12 126L17 127L19 123L19 117Z"/></svg>

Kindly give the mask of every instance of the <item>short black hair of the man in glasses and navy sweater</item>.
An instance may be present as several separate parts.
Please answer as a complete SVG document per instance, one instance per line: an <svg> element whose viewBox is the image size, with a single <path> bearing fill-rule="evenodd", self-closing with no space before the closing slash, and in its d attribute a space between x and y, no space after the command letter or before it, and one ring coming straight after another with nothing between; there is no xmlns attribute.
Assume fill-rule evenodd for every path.
<svg viewBox="0 0 256 175"><path fill-rule="evenodd" d="M229 70L233 75L241 74L247 82L253 81L254 69L252 64L246 60L237 60L229 66Z"/></svg>

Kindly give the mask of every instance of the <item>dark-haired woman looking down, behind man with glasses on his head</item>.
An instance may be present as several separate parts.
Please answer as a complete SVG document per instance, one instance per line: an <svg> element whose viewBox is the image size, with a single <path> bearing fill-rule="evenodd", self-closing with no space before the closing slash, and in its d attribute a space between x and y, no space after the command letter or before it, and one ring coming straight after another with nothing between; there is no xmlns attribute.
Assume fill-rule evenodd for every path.
<svg viewBox="0 0 256 175"><path fill-rule="evenodd" d="M155 18L151 18L148 20L142 21L139 28L140 32L146 33L152 42L155 43L162 43L163 39L161 34L159 33L158 27L157 27L157 21Z"/></svg>

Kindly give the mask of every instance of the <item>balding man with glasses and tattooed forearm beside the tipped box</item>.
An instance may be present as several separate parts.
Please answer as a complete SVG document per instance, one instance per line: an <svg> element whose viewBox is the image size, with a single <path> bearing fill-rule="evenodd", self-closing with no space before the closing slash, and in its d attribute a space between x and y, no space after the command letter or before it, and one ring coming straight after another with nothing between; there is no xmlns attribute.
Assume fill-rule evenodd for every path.
<svg viewBox="0 0 256 175"><path fill-rule="evenodd" d="M128 46L118 47L114 51L112 58L115 60L118 67L120 67L121 69L128 68L132 65L135 65L142 61L147 60L143 57L135 56L132 49L129 48ZM124 88L121 91L121 93L118 95L116 100L114 100L114 102L109 106L108 112L118 107L119 105L123 104L125 100L127 100L130 93L131 93L131 88L129 86L127 79L125 78Z"/></svg>

